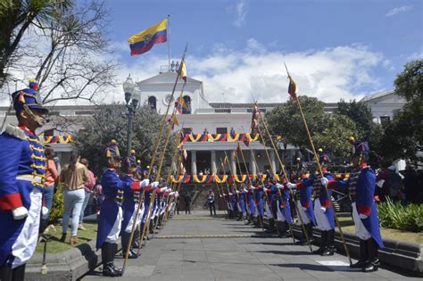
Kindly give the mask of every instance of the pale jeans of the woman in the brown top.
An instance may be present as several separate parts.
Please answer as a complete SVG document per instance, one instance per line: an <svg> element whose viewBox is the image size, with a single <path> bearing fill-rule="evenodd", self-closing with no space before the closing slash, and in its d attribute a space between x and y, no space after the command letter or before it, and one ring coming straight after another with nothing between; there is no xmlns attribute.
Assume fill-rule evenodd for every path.
<svg viewBox="0 0 423 281"><path fill-rule="evenodd" d="M84 188L76 190L65 190L63 193L64 197L64 212L62 221L62 233L68 231L69 219L71 218L71 236L77 236L79 215L81 214L82 204L84 203L85 190Z"/></svg>

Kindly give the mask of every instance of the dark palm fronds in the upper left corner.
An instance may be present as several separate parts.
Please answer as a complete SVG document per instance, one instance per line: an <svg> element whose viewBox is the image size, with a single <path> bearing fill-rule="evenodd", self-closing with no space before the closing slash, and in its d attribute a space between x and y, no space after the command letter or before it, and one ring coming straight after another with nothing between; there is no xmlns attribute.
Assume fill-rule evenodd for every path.
<svg viewBox="0 0 423 281"><path fill-rule="evenodd" d="M43 26L69 9L71 0L10 0L0 2L0 88L7 69L16 61L16 51L31 26Z"/></svg>

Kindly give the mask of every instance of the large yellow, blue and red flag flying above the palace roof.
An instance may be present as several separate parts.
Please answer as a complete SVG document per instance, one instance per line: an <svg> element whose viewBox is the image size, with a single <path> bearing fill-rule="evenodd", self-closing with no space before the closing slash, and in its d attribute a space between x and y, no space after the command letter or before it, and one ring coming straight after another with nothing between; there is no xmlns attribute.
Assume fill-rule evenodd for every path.
<svg viewBox="0 0 423 281"><path fill-rule="evenodd" d="M167 28L168 19L164 19L151 28L129 37L130 55L144 54L150 51L154 44L166 42Z"/></svg>

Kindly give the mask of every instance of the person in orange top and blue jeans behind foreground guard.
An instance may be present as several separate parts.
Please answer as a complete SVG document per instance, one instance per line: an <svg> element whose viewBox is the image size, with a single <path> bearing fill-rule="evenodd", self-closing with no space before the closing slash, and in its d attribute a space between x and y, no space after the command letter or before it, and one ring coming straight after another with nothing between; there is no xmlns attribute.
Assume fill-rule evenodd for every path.
<svg viewBox="0 0 423 281"><path fill-rule="evenodd" d="M48 217L52 210L53 206L53 197L54 197L54 186L56 186L59 179L57 174L56 164L54 162L54 150L51 146L46 145L46 181L43 187L43 200L48 209L46 215L41 216L41 221L39 223L39 233L43 233L48 225Z"/></svg>

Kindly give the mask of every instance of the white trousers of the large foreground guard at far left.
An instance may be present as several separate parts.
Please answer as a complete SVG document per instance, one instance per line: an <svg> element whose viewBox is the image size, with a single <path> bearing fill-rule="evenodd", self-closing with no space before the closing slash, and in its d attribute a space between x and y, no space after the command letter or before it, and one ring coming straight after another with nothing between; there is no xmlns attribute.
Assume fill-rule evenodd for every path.
<svg viewBox="0 0 423 281"><path fill-rule="evenodd" d="M43 193L37 188L33 188L29 194L31 205L28 211L28 217L23 224L21 233L12 244L12 269L15 269L26 263L37 247L39 220L41 208L43 207ZM3 226L4 227L4 226Z"/></svg>

